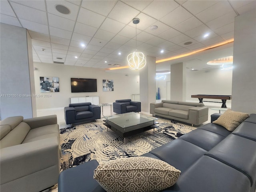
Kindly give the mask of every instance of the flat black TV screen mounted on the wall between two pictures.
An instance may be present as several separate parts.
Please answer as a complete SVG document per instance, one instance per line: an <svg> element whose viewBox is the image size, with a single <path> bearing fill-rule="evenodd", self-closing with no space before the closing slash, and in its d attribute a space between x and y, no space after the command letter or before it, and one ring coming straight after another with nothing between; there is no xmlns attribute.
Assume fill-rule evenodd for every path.
<svg viewBox="0 0 256 192"><path fill-rule="evenodd" d="M71 92L97 92L97 79L71 78Z"/></svg>

